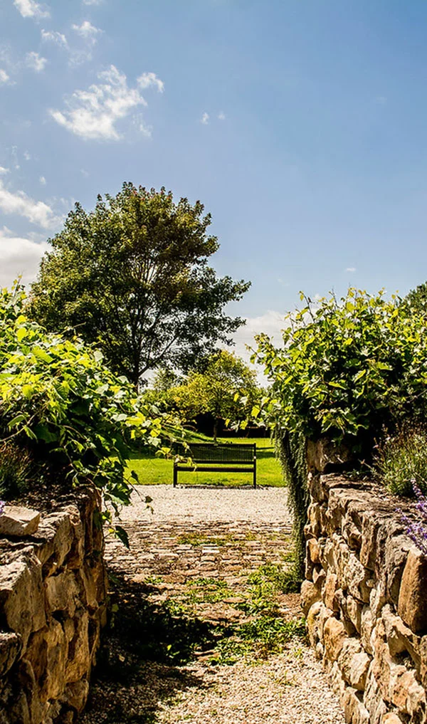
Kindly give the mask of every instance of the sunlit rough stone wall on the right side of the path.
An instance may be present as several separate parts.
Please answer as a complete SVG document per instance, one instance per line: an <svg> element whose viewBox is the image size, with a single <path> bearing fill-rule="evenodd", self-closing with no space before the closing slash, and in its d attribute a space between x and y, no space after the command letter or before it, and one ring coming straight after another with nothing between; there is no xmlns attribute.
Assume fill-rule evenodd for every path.
<svg viewBox="0 0 427 724"><path fill-rule="evenodd" d="M310 641L349 724L427 722L427 560L375 486L309 475Z"/></svg>

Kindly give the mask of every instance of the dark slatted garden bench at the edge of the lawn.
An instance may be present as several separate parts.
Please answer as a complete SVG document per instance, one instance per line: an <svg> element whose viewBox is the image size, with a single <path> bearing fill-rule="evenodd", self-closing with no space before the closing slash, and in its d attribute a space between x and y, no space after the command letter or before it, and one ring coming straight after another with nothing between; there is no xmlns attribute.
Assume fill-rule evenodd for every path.
<svg viewBox="0 0 427 724"><path fill-rule="evenodd" d="M253 487L256 487L256 445L245 443L192 442L183 453L193 460L193 465L174 461L174 487L179 472L198 473L252 473Z"/></svg>

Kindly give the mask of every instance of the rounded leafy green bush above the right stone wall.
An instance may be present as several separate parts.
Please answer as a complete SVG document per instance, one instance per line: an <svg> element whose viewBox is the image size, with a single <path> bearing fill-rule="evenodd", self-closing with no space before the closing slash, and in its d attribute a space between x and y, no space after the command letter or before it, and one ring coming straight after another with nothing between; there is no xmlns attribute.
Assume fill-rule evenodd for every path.
<svg viewBox="0 0 427 724"><path fill-rule="evenodd" d="M285 317L283 346L258 337L256 361L273 383L273 419L309 439L366 450L408 416L426 417L426 317L383 292L350 289Z"/></svg>

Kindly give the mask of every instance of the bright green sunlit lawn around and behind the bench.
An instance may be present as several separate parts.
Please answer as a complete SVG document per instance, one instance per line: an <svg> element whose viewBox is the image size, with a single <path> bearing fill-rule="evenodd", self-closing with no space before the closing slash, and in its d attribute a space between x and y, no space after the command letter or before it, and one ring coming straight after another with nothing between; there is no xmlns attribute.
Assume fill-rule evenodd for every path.
<svg viewBox="0 0 427 724"><path fill-rule="evenodd" d="M212 442L212 440L200 435L197 436L197 440L195 439L194 442ZM274 446L269 438L219 438L219 442L255 442L257 484L274 487L284 486L282 471L274 457ZM153 453L138 452L132 456L129 467L138 473L142 485L172 485L172 471L174 468L172 460L156 458ZM252 473L198 473L198 471L195 471L194 473L179 473L178 481L179 484L245 485L250 487L252 485Z"/></svg>

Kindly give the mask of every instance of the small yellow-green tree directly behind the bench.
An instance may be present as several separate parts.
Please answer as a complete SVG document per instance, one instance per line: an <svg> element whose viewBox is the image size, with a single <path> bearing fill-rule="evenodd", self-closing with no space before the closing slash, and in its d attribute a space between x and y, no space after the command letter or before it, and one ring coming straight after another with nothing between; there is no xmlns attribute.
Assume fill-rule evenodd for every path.
<svg viewBox="0 0 427 724"><path fill-rule="evenodd" d="M211 413L216 440L219 421L246 420L260 395L255 371L234 353L221 350L207 359L203 372L190 372L184 384L169 390L168 399L185 421Z"/></svg>

